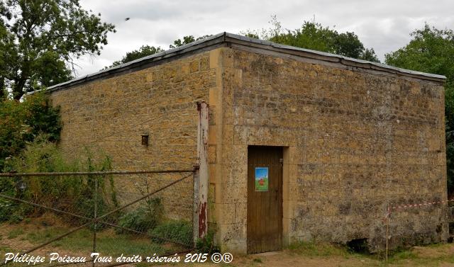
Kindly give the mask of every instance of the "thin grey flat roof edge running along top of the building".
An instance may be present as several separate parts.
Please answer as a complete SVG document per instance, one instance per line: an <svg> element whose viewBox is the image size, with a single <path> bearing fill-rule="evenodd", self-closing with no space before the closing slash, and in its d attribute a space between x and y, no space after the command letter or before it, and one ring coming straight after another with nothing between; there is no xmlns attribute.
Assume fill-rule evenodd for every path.
<svg viewBox="0 0 454 267"><path fill-rule="evenodd" d="M158 53L156 53L154 55L150 55L148 57L142 57L140 59L135 59L131 62L120 64L118 66L111 67L109 69L102 69L99 72L94 72L92 74L80 76L76 79L72 79L70 81L65 81L61 84L55 84L54 86L49 86L48 89L46 89L46 91L56 91L58 89L66 88L69 86L83 84L86 81L93 81L96 79L101 79L103 77L112 76L114 74L124 72L128 69L140 67L141 65L147 64L149 62L157 62L157 61L160 61L161 59L167 59L167 58L174 57L177 55L182 55L187 52L196 51L201 48L210 47L210 46L220 44L223 42L227 42L227 43L228 42L238 42L240 44L241 44L241 42L243 42L243 45L246 45L244 42L247 42L249 46L259 46L260 48L265 48L265 49L267 49L267 47L272 47L272 48L279 50L279 52L284 52L284 53L287 51L303 52L304 55L301 55L301 57L314 57L314 58L321 59L324 61L339 62L341 64L359 67L362 69L375 69L375 70L393 72L393 73L397 73L397 74L402 74L404 76L413 76L413 77L417 77L420 79L428 79L431 81L443 82L446 79L446 76L443 76L443 75L429 74L429 73L425 73L425 72L416 72L416 71L412 71L409 69L402 69L402 68L398 68L398 67L389 66L387 64L369 62L369 61L365 61L362 59L354 59L351 57L343 57L341 55L335 55L335 54L331 54L331 53L327 53L327 52L320 52L320 51L316 51L316 50L309 50L309 49L300 48L300 47L292 47L289 45L281 45L281 44L277 44L275 42L270 42L267 40L259 40L259 39L255 39L255 38L249 38L246 36L242 36L242 35L236 35L233 33L223 32L223 33L218 33L216 35L211 35L208 38L196 40L195 42L191 42L187 45L182 45L180 47L175 47L170 50L158 52ZM270 48L268 48L268 49L270 49ZM34 93L34 92L35 91L33 91L31 93ZM28 94L31 94L31 93L28 93Z"/></svg>

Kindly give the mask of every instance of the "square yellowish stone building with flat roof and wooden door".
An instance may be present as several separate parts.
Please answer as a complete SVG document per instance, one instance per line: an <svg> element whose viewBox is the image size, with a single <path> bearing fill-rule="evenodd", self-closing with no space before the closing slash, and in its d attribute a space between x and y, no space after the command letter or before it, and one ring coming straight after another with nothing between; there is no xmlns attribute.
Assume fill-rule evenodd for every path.
<svg viewBox="0 0 454 267"><path fill-rule="evenodd" d="M447 238L444 204L392 209L447 198L443 81L221 33L48 91L60 147L99 140L118 169L192 166L195 103L209 103L209 222L223 249L360 239L377 251L388 207L391 247ZM186 185L168 197L191 212Z"/></svg>

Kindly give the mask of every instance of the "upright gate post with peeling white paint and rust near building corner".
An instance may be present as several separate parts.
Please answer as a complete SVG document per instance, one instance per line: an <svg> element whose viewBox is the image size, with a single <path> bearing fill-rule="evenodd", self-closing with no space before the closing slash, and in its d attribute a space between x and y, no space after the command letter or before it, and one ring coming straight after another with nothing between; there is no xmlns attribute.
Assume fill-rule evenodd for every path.
<svg viewBox="0 0 454 267"><path fill-rule="evenodd" d="M197 103L199 120L197 123L197 160L199 174L197 184L196 237L204 238L208 231L208 127L209 105ZM195 191L194 191L195 194ZM195 228L195 227L194 227Z"/></svg>

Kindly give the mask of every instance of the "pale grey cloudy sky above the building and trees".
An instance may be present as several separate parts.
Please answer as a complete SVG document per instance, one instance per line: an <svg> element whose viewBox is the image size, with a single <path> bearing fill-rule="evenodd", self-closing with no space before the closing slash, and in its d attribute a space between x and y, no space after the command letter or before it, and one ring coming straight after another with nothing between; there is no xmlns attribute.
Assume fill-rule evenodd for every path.
<svg viewBox="0 0 454 267"><path fill-rule="evenodd" d="M109 34L101 56L79 60L79 76L108 66L141 45L167 49L184 35L268 28L272 15L288 29L299 28L315 16L316 22L339 32L353 31L365 47L375 49L380 60L406 45L409 33L425 22L454 29L453 0L81 0L81 5L101 12L117 32Z"/></svg>

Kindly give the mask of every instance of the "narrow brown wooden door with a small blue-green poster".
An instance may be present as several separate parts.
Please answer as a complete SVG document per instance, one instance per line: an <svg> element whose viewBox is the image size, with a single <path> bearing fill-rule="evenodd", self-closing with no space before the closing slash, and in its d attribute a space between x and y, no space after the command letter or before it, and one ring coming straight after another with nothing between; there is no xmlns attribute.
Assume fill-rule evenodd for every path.
<svg viewBox="0 0 454 267"><path fill-rule="evenodd" d="M282 249L282 147L248 147L248 254Z"/></svg>

